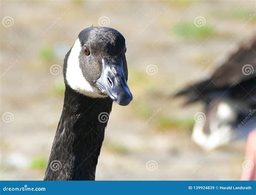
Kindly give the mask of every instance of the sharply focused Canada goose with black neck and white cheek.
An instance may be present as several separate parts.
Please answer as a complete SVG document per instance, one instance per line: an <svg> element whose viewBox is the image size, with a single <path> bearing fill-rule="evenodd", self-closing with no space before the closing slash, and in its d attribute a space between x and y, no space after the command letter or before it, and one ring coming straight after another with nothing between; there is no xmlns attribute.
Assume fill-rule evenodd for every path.
<svg viewBox="0 0 256 195"><path fill-rule="evenodd" d="M44 180L95 180L112 102L132 100L125 38L109 27L81 31L63 66L65 97Z"/></svg>

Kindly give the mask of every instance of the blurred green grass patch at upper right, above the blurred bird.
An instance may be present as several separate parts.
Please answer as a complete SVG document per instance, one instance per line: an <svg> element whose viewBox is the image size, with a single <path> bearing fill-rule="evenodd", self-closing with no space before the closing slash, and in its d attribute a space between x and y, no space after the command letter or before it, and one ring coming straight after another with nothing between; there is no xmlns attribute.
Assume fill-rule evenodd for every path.
<svg viewBox="0 0 256 195"><path fill-rule="evenodd" d="M214 29L207 24L197 27L194 22L179 22L172 26L171 32L181 38L205 39L211 36Z"/></svg>

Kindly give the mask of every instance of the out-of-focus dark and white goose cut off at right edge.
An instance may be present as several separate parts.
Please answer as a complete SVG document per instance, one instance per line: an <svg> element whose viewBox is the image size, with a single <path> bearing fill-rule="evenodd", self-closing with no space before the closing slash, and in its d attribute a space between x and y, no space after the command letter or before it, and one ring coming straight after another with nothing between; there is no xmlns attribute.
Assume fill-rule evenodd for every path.
<svg viewBox="0 0 256 195"><path fill-rule="evenodd" d="M175 96L186 105L204 102L196 117L192 139L204 149L214 149L234 138L246 137L256 126L256 39L243 41L210 78L186 87Z"/></svg>

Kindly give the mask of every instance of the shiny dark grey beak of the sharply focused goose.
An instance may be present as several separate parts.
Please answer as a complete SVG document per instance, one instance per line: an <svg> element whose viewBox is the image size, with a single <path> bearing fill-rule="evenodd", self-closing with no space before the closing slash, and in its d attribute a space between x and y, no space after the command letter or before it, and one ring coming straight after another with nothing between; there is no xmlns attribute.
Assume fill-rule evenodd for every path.
<svg viewBox="0 0 256 195"><path fill-rule="evenodd" d="M110 65L103 59L102 65L102 75L100 75L96 84L119 105L129 105L132 101L132 94L125 80L123 60Z"/></svg>

